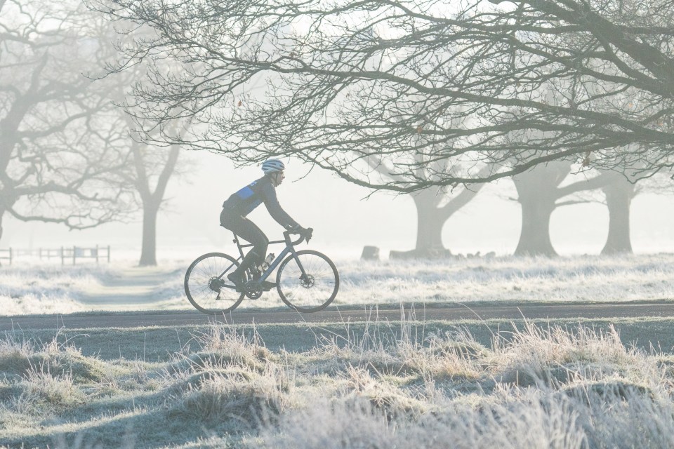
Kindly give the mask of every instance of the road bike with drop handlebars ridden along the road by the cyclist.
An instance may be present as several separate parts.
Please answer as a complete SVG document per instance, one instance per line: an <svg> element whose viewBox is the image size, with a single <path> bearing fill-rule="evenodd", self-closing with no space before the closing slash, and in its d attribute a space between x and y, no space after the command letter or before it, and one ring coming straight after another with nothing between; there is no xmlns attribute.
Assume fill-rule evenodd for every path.
<svg viewBox="0 0 674 449"><path fill-rule="evenodd" d="M299 234L292 241L290 236ZM237 290L227 274L236 269L244 258L243 248L237 234L233 243L237 244L239 257L225 253L207 253L197 257L185 273L185 294L197 310L205 314L224 314L236 309L244 298L257 300L265 291L277 288L281 300L296 311L314 312L323 310L335 299L339 289L339 274L335 264L324 254L315 250L295 250L303 241L309 242L312 229L306 234L286 231L284 239L270 241L270 245L285 243L278 257L263 265L262 273L256 268L246 270L246 282ZM288 257L286 257L288 255ZM278 267L276 283L266 279Z"/></svg>

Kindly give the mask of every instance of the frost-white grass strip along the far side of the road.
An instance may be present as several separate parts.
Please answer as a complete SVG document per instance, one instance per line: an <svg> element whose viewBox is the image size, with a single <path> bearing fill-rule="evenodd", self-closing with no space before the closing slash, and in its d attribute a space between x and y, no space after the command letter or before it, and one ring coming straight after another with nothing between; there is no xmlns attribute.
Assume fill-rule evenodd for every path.
<svg viewBox="0 0 674 449"><path fill-rule="evenodd" d="M132 262L0 268L3 314L190 308L183 276L190 261L158 268ZM674 255L493 257L433 261L337 260L333 304L480 301L630 301L674 297ZM272 290L240 307L282 305Z"/></svg>

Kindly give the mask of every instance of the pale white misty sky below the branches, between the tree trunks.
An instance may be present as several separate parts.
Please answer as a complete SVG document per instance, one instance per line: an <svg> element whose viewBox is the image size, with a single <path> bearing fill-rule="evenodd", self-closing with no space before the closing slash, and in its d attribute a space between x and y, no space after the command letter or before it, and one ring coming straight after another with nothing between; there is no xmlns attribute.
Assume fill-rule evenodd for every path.
<svg viewBox="0 0 674 449"><path fill-rule="evenodd" d="M194 173L173 178L167 194L171 200L159 215L157 256L191 259L211 250L232 250L231 234L219 226L224 199L261 175L258 167L234 169L224 156L207 152L190 154L196 158ZM388 251L414 248L416 209L409 196L377 193L364 200L369 191L350 185L329 173L286 161L286 180L277 190L284 209L300 225L315 229L311 247L335 257L359 257L362 247L380 248L383 259ZM296 181L296 182L293 182ZM482 254L496 251L513 253L520 236L520 207L515 201L512 182L502 180L482 189L443 231L444 245L453 253ZM632 241L637 253L674 253L672 213L674 196L642 194L632 206ZM280 239L282 228L264 206L251 215L271 240ZM608 213L600 203L564 206L553 213L553 245L562 255L597 254L607 235ZM62 225L22 223L5 218L0 248L58 248L60 246L112 246L112 256L124 253L140 256L140 221L113 223L97 229L69 232ZM274 252L273 249L271 249Z"/></svg>

